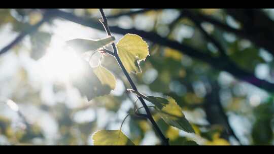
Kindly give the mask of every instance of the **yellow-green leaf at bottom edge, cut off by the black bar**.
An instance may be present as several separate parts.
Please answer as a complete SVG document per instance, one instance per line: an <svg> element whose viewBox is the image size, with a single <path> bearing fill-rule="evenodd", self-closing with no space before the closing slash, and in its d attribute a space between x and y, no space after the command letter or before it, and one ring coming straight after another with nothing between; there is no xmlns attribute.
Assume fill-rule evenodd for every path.
<svg viewBox="0 0 274 154"><path fill-rule="evenodd" d="M100 130L93 134L93 145L134 145L121 130Z"/></svg>

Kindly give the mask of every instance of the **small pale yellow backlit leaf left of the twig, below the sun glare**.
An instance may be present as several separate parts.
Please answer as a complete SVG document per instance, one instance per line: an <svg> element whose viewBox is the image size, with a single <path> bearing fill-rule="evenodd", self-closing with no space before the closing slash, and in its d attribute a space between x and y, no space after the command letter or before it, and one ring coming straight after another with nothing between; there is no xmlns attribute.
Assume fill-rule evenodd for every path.
<svg viewBox="0 0 274 154"><path fill-rule="evenodd" d="M99 65L93 68L93 71L97 75L102 85L108 85L110 86L112 90L115 89L115 85L116 85L115 76L108 69Z"/></svg>

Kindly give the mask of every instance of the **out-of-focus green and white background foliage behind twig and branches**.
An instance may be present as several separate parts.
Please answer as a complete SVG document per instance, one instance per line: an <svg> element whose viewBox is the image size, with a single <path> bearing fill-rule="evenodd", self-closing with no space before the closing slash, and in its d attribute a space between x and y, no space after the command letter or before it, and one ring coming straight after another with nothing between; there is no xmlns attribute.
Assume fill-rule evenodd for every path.
<svg viewBox="0 0 274 154"><path fill-rule="evenodd" d="M85 18L100 17L98 9L61 10ZM125 29L155 32L170 40L218 56L218 49L205 40L192 20L187 17L177 20L180 10L160 9L125 15L109 19L109 24ZM136 10L105 9L107 16L129 11ZM241 27L241 24L238 25L223 9L192 11L214 17L228 25ZM7 35L19 34L42 18L43 11L39 9L0 9L0 33L5 31L5 27L10 27L8 30L6 28ZM45 76L51 74L43 71L39 74L37 70L42 69L41 67L30 66L39 63L48 54L48 46L56 40L55 33L58 33L52 29L58 22L64 21L51 20L26 37L9 53L1 55L1 145L91 145L94 132L102 129L119 130L125 116L133 112L136 97L125 90L130 88L129 84L113 57L105 56L102 60L102 65L111 70L117 80L116 88L112 91L108 86L102 87L91 69L70 85L60 81L45 81ZM64 28L65 31L66 23L62 26L60 29ZM221 43L229 59L238 67L254 72L257 78L274 82L273 60L268 51L213 24L203 22L202 27ZM80 32L81 28L68 27L65 33ZM103 38L106 33L95 31L90 36L92 39ZM115 37L120 38L121 35L115 34ZM169 138L171 145L238 145L227 123L241 144L274 144L273 94L182 54L184 51L147 42L150 56L146 61L140 62L142 73L131 74L134 83L145 95L174 98L195 131L195 134L186 133L167 125L157 111L151 108L155 121ZM1 44L1 48L5 46L6 44ZM62 58L65 58L65 55ZM85 91L88 99L81 96L79 90ZM110 91L110 95L96 97ZM19 106L19 111L12 109L6 99L13 100ZM136 102L136 106L141 107L140 102ZM140 112L143 112L143 109L140 109ZM151 124L135 115L126 119L122 131L123 135L130 139L130 143L132 141L135 145L160 144Z"/></svg>

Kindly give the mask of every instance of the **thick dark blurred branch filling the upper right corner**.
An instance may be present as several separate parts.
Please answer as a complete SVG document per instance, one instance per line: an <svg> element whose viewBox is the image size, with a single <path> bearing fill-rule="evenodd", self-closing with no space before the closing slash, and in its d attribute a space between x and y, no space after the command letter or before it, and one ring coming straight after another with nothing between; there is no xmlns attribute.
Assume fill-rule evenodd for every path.
<svg viewBox="0 0 274 154"><path fill-rule="evenodd" d="M225 11L239 21L243 27L235 29L207 15L197 14L197 17L199 20L210 22L225 31L248 39L274 55L274 22L263 11L260 9L225 9Z"/></svg>

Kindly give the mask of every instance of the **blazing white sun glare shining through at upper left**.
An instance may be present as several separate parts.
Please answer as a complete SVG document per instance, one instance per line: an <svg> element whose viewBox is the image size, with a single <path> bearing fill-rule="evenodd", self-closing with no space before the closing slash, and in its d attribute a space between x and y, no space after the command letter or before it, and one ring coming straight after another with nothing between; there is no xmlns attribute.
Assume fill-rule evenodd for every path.
<svg viewBox="0 0 274 154"><path fill-rule="evenodd" d="M73 31L72 29L81 29ZM83 59L77 52L68 47L65 41L77 37L87 37L94 32L71 22L55 22L51 43L47 52L40 60L45 78L52 81L68 82L71 77L81 78Z"/></svg>

